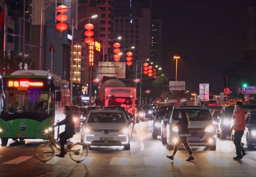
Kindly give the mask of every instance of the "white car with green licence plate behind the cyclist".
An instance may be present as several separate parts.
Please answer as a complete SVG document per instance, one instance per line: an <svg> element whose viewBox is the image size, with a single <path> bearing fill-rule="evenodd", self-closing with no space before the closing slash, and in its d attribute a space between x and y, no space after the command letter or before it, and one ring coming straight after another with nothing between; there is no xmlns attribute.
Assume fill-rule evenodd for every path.
<svg viewBox="0 0 256 177"><path fill-rule="evenodd" d="M81 119L82 143L88 146L124 146L130 149L131 130L122 110L92 110L86 120Z"/></svg>

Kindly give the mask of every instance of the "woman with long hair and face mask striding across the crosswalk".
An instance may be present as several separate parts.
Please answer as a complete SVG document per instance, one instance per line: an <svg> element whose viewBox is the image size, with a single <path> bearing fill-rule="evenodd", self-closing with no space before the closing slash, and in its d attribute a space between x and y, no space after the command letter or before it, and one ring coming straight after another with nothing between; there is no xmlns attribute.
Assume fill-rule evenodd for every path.
<svg viewBox="0 0 256 177"><path fill-rule="evenodd" d="M173 151L173 155L172 156L167 156L167 158L173 160L174 159L174 155L176 154L178 148L180 147L181 144L183 144L183 146L185 147L185 149L188 151L189 153L189 158L186 159L186 161L191 161L194 160L193 157L193 152L191 150L191 148L189 147L188 144L188 135L190 135L188 126L189 126L189 118L188 115L186 114L185 111L180 111L179 112L179 122L177 122L176 124L174 124L173 126L171 126L171 128L173 128L174 126L176 126L178 128L178 135L179 138L177 140L177 142L174 144L174 151Z"/></svg>

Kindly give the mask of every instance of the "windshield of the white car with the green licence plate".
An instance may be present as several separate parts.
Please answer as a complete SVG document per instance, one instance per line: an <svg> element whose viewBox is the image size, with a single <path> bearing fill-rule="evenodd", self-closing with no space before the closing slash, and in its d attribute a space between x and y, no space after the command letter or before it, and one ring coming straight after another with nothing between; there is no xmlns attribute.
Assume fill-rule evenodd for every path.
<svg viewBox="0 0 256 177"><path fill-rule="evenodd" d="M88 123L125 123L122 113L91 113Z"/></svg>

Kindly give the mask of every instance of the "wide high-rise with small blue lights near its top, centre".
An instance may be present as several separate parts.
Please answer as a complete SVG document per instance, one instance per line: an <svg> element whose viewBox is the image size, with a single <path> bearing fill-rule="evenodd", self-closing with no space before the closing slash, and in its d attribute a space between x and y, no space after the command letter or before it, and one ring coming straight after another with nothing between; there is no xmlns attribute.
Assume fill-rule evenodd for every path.
<svg viewBox="0 0 256 177"><path fill-rule="evenodd" d="M114 0L112 23L113 38L122 37L118 41L121 43L121 51L135 46L132 62L150 58L150 0ZM125 54L120 61L127 61Z"/></svg>

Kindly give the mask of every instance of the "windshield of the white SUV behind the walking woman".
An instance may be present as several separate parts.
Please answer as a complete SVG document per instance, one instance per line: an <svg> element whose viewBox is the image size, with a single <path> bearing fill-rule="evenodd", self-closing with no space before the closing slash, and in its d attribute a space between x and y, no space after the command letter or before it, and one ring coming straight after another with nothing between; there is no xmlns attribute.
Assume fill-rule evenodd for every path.
<svg viewBox="0 0 256 177"><path fill-rule="evenodd" d="M184 110L189 117L189 121L207 121L212 120L208 109L174 109L173 120L179 120L179 112Z"/></svg>

